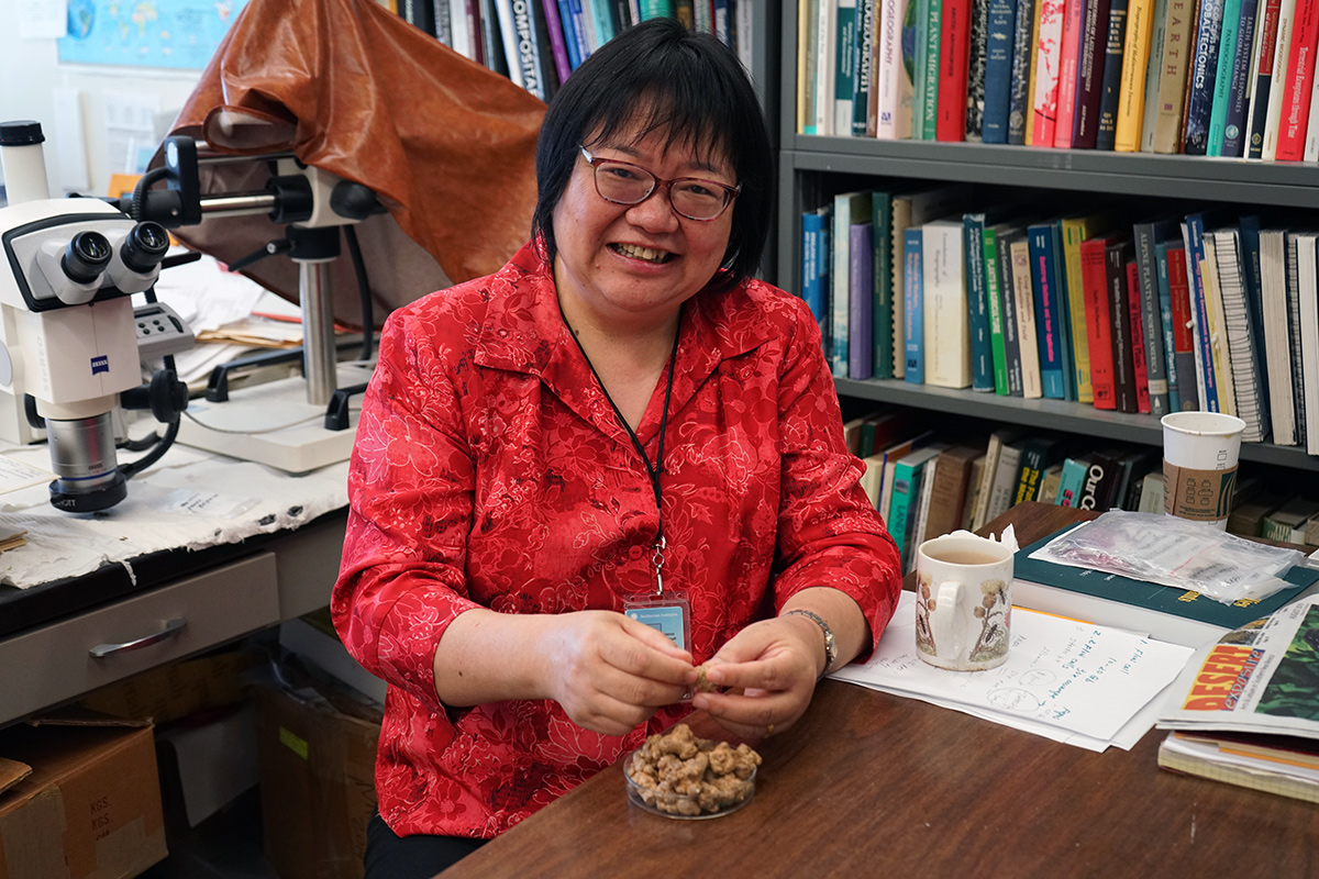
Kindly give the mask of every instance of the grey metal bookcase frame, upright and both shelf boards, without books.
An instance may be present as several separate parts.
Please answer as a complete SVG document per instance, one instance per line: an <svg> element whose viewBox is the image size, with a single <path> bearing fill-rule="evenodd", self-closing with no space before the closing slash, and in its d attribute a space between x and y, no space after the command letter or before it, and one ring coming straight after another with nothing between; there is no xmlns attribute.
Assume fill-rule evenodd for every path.
<svg viewBox="0 0 1319 879"><path fill-rule="evenodd" d="M1130 200L1177 199L1236 207L1314 210L1319 204L1319 166L1203 156L1158 156L1086 149L1002 146L979 142L876 140L798 134L797 4L783 4L780 42L780 169L777 261L778 286L797 291L801 277L802 211L826 204L836 192L857 186L902 181L972 183L1018 192L1053 191ZM931 412L966 415L989 423L1146 445L1162 445L1153 415L1096 410L1088 403L1022 399L915 385L902 380L835 380L844 403L890 403ZM1303 447L1244 443L1241 460L1319 477L1319 457Z"/></svg>

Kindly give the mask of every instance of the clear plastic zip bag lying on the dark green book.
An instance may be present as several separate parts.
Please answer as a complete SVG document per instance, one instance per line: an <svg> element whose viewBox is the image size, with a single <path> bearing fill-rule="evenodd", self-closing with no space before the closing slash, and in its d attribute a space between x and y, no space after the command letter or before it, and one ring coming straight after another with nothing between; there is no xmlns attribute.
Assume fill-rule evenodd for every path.
<svg viewBox="0 0 1319 879"><path fill-rule="evenodd" d="M1030 557L1190 589L1232 604L1258 601L1286 586L1282 575L1302 563L1304 553L1246 540L1203 522L1109 510L1050 540Z"/></svg>

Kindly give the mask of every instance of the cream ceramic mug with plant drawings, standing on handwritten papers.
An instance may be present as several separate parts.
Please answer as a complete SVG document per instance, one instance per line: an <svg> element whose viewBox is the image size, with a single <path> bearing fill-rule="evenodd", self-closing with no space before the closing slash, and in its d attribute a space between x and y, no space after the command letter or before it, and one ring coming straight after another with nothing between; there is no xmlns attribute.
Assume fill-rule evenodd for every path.
<svg viewBox="0 0 1319 879"><path fill-rule="evenodd" d="M980 671L1008 659L1016 546L959 531L917 551L915 646L931 666Z"/></svg>

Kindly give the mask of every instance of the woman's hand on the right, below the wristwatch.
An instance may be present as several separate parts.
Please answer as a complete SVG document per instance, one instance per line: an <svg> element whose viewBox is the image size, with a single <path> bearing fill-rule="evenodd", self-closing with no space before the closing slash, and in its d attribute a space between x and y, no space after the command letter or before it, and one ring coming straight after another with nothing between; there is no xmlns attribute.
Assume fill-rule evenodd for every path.
<svg viewBox="0 0 1319 879"><path fill-rule="evenodd" d="M761 739L787 729L811 702L822 652L819 627L803 617L756 622L706 663L710 683L728 692L696 693L706 710L739 738Z"/></svg>

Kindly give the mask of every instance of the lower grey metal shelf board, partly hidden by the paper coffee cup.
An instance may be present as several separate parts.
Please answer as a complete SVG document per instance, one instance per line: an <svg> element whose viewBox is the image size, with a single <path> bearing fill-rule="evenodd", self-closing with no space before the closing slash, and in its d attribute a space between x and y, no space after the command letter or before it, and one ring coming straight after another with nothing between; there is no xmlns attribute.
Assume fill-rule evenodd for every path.
<svg viewBox="0 0 1319 879"><path fill-rule="evenodd" d="M1109 412L1062 399L1022 399L972 390L914 385L902 380L835 378L834 385L840 397L951 412L1004 424L1021 424L1121 443L1163 444L1163 430L1153 415ZM1291 445L1242 443L1241 460L1319 473L1319 457Z"/></svg>

